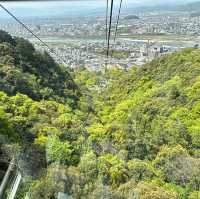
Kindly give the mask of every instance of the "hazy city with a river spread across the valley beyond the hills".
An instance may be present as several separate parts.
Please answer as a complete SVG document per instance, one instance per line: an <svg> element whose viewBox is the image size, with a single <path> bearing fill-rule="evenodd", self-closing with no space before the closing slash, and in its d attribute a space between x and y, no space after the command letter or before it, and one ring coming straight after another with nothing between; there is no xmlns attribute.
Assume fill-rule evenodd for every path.
<svg viewBox="0 0 200 199"><path fill-rule="evenodd" d="M105 16L101 14L94 14L92 17L28 17L24 18L24 22L72 68L83 66L101 70L105 64L109 67L129 68L133 65L141 66L154 58L183 48L198 48L198 14L185 10L156 9L128 13L121 16L117 40L111 41L108 59ZM115 23L112 28L115 29ZM13 20L4 19L0 29L27 38L36 49L48 51ZM54 54L52 56L58 63L63 62Z"/></svg>

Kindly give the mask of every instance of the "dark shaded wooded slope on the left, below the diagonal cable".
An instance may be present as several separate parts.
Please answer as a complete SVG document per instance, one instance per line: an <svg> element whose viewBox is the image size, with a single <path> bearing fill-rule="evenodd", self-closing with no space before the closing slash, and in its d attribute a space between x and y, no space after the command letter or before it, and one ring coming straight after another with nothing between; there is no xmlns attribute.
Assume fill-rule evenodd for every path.
<svg viewBox="0 0 200 199"><path fill-rule="evenodd" d="M34 100L54 99L75 104L79 91L66 68L36 51L22 38L0 31L0 90L26 94Z"/></svg>

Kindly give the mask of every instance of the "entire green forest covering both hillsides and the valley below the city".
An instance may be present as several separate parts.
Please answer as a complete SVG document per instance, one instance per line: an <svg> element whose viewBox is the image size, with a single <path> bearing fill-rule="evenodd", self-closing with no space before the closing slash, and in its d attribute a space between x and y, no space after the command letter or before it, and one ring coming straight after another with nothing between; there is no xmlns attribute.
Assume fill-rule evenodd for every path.
<svg viewBox="0 0 200 199"><path fill-rule="evenodd" d="M17 42L24 40L0 38L1 147L7 140L20 151L18 199L56 199L58 192L74 199L198 199L199 50L128 71L78 68L70 76L47 54L22 56L28 51L20 53ZM52 93L45 97L43 89Z"/></svg>

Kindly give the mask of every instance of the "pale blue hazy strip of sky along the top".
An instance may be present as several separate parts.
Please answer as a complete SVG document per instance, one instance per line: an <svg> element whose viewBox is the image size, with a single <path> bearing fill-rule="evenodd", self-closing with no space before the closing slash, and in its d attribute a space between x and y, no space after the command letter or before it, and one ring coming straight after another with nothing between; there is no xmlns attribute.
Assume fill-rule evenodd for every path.
<svg viewBox="0 0 200 199"><path fill-rule="evenodd" d="M120 0L114 0L115 9L118 8ZM122 11L128 8L139 6L154 6L158 4L178 4L188 3L197 0L123 0ZM18 17L31 17L31 16L63 16L63 15L82 15L91 14L105 10L106 0L66 0L66 1L29 1L29 2L3 2L2 5L8 8ZM0 17L7 18L7 14L0 9Z"/></svg>

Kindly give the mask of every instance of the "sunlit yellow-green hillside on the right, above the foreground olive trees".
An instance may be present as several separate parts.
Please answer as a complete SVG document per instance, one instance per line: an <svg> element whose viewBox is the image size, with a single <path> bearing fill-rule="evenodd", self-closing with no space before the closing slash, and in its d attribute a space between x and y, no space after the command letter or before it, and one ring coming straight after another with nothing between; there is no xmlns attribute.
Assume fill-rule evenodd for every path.
<svg viewBox="0 0 200 199"><path fill-rule="evenodd" d="M124 149L130 149L131 141L141 150L133 147L130 158L151 158L165 144L198 151L199 50L168 55L118 75L98 96L103 105L97 110L103 109L101 122L117 147L116 136L123 135Z"/></svg>

